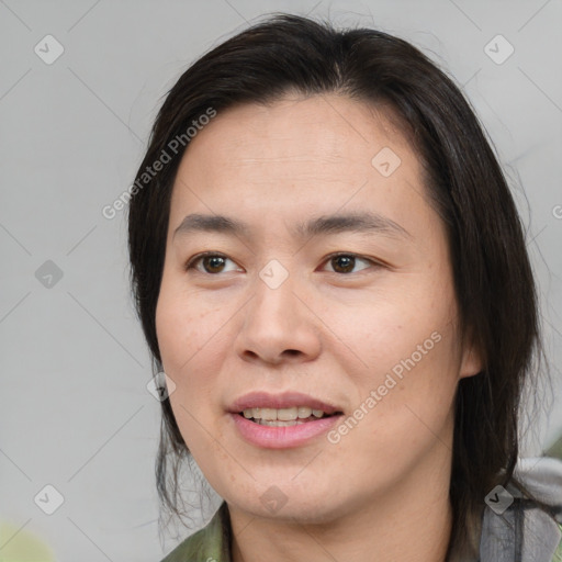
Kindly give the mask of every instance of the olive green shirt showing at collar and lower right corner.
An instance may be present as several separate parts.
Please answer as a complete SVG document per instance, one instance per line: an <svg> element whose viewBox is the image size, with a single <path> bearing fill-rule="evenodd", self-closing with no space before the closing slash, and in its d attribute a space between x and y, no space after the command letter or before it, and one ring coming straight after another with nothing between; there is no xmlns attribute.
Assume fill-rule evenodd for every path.
<svg viewBox="0 0 562 562"><path fill-rule="evenodd" d="M221 504L206 527L186 539L161 562L232 562L231 517L226 502ZM533 559L533 562L540 560ZM562 562L562 542L552 562Z"/></svg>

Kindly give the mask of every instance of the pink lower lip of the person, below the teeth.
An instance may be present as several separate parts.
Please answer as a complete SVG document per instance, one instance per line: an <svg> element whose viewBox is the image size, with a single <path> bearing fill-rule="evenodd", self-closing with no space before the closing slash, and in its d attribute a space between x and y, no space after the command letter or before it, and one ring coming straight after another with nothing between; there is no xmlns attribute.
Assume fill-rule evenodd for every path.
<svg viewBox="0 0 562 562"><path fill-rule="evenodd" d="M326 434L341 415L323 417L294 426L271 427L250 422L239 414L231 414L234 424L246 441L265 449L286 449L305 445L314 437Z"/></svg>

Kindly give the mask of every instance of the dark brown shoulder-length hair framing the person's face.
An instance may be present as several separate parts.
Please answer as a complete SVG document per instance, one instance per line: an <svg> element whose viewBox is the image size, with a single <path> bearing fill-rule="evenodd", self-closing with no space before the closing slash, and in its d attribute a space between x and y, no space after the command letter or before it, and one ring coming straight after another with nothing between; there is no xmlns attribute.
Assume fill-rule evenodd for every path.
<svg viewBox="0 0 562 562"><path fill-rule="evenodd" d="M518 456L519 402L538 342L536 290L516 206L482 126L453 81L408 42L281 14L222 43L179 78L156 119L128 214L133 291L155 367L161 370L155 312L170 194L186 150L171 155L170 143L210 108L220 113L288 92L335 92L391 109L423 164L448 231L462 335L484 361L459 383L450 484L450 553L473 555L484 497L512 480ZM170 161L144 177L164 151ZM189 451L169 401L161 406L158 492L178 513L178 469Z"/></svg>

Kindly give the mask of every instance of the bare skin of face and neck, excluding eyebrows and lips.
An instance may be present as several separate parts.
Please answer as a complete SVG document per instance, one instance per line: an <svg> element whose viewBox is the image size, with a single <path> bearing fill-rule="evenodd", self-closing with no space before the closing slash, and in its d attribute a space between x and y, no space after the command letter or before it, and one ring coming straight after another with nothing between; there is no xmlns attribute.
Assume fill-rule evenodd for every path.
<svg viewBox="0 0 562 562"><path fill-rule="evenodd" d="M181 434L228 504L235 562L445 560L454 393L480 361L460 341L446 232L420 164L386 115L335 94L241 105L220 112L181 161L157 334ZM383 147L401 158L390 177L371 165ZM366 211L407 234L294 232ZM191 213L247 233L173 236ZM223 269L186 270L203 251L226 256ZM358 255L349 272L334 252ZM259 277L272 259L289 273L277 289ZM248 392L294 390L352 415L434 333L439 342L337 443L256 447L227 414ZM260 501L272 485L286 498L273 514Z"/></svg>

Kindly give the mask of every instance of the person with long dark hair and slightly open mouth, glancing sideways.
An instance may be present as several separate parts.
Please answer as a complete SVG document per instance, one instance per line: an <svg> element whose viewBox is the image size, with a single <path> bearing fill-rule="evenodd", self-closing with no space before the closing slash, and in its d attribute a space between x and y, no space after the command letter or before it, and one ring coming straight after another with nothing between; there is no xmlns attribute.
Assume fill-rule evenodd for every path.
<svg viewBox="0 0 562 562"><path fill-rule="evenodd" d="M162 504L187 459L223 499L165 562L561 555L562 463L519 458L520 220L416 47L291 14L223 42L167 94L128 236Z"/></svg>

